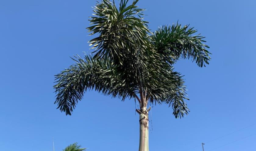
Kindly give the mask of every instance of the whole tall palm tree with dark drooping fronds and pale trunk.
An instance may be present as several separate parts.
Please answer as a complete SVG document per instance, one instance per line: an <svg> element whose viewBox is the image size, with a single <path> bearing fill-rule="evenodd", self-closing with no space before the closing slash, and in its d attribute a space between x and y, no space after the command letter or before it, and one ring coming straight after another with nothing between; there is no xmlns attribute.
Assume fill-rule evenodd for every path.
<svg viewBox="0 0 256 151"><path fill-rule="evenodd" d="M87 90L124 101L136 99L140 123L139 151L148 151L148 112L151 105L168 104L175 118L189 109L182 75L174 71L180 59L191 59L199 67L211 59L204 37L188 25L162 26L151 33L143 11L128 0L102 0L94 7L90 41L91 55L73 57L76 62L55 76L56 101L60 111L71 115Z"/></svg>

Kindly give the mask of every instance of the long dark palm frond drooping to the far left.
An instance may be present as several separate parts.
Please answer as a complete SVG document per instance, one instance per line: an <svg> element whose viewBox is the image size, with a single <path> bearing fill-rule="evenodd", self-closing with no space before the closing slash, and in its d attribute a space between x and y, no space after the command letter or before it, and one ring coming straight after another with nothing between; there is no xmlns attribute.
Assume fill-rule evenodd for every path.
<svg viewBox="0 0 256 151"><path fill-rule="evenodd" d="M122 73L117 72L110 62L91 56L86 56L85 59L75 56L73 60L76 64L55 76L55 104L66 115L71 115L78 100L83 98L87 90L96 90L122 100L134 95L134 87L123 79Z"/></svg>

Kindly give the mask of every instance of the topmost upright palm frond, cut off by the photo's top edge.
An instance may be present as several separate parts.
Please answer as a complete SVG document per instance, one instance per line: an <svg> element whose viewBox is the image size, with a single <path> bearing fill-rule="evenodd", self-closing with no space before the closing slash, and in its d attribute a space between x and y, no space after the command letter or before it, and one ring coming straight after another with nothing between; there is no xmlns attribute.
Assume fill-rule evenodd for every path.
<svg viewBox="0 0 256 151"><path fill-rule="evenodd" d="M144 9L136 6L138 0L127 5L128 0L121 0L119 9L114 1L102 0L94 7L95 16L90 19L91 25L87 29L98 33L98 37L90 40L92 48L97 52L94 57L109 57L112 60L118 59L122 64L121 57L127 53L136 54L148 49L150 43L147 40L149 30L146 21L142 20ZM147 57L147 56L145 56Z"/></svg>

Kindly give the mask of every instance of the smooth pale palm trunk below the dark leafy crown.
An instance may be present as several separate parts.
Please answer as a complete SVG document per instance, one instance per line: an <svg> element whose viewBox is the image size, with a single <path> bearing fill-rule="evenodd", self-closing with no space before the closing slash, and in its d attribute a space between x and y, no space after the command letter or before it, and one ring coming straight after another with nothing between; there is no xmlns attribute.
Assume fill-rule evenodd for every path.
<svg viewBox="0 0 256 151"><path fill-rule="evenodd" d="M148 114L140 114L140 145L139 151L149 151L148 146Z"/></svg>

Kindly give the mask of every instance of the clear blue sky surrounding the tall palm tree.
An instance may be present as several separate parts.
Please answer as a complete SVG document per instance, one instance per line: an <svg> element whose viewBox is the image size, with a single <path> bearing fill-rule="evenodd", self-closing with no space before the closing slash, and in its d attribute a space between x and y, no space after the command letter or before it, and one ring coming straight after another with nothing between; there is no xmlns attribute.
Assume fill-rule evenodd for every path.
<svg viewBox="0 0 256 151"><path fill-rule="evenodd" d="M89 53L86 27L95 0L2 0L0 2L0 150L60 151L78 142L88 151L138 149L134 100L85 94L72 116L56 110L54 75ZM152 108L151 151L205 151L256 133L255 24L253 0L140 0L150 29L176 23L194 26L211 47L212 61L198 68L176 64L185 75L190 114L175 119L166 105ZM151 126L151 124L150 124ZM256 135L215 149L255 150ZM191 149L195 146L197 148Z"/></svg>

